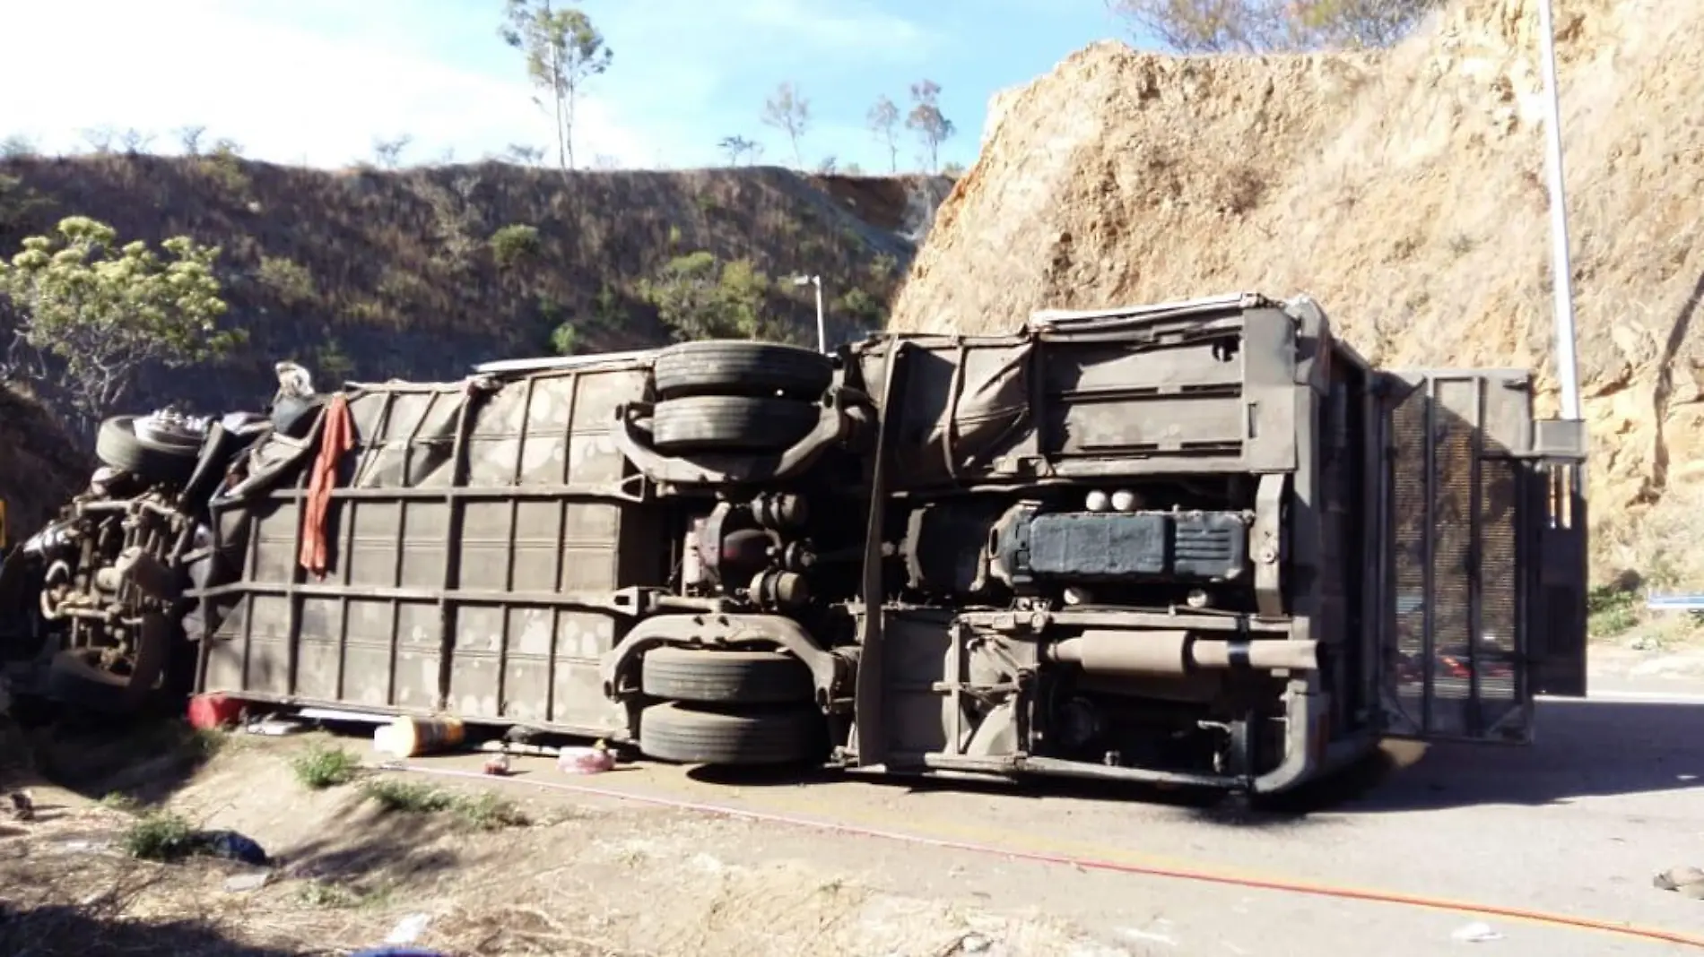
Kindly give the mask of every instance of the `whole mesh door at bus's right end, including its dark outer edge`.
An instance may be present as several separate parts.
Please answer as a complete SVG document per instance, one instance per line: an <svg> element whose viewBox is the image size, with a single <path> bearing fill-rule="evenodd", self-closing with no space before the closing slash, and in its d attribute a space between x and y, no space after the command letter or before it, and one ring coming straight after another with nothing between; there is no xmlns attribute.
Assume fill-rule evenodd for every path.
<svg viewBox="0 0 1704 957"><path fill-rule="evenodd" d="M1578 659L1583 690L1583 615L1569 623L1542 606L1574 591L1583 611L1585 513L1557 514L1556 472L1532 455L1527 373L1426 370L1387 381L1385 732L1528 742L1540 683L1571 685ZM1557 519L1573 524L1556 530ZM1556 552L1568 543L1578 548ZM1537 639L1554 627L1578 628L1578 650L1557 633Z"/></svg>

